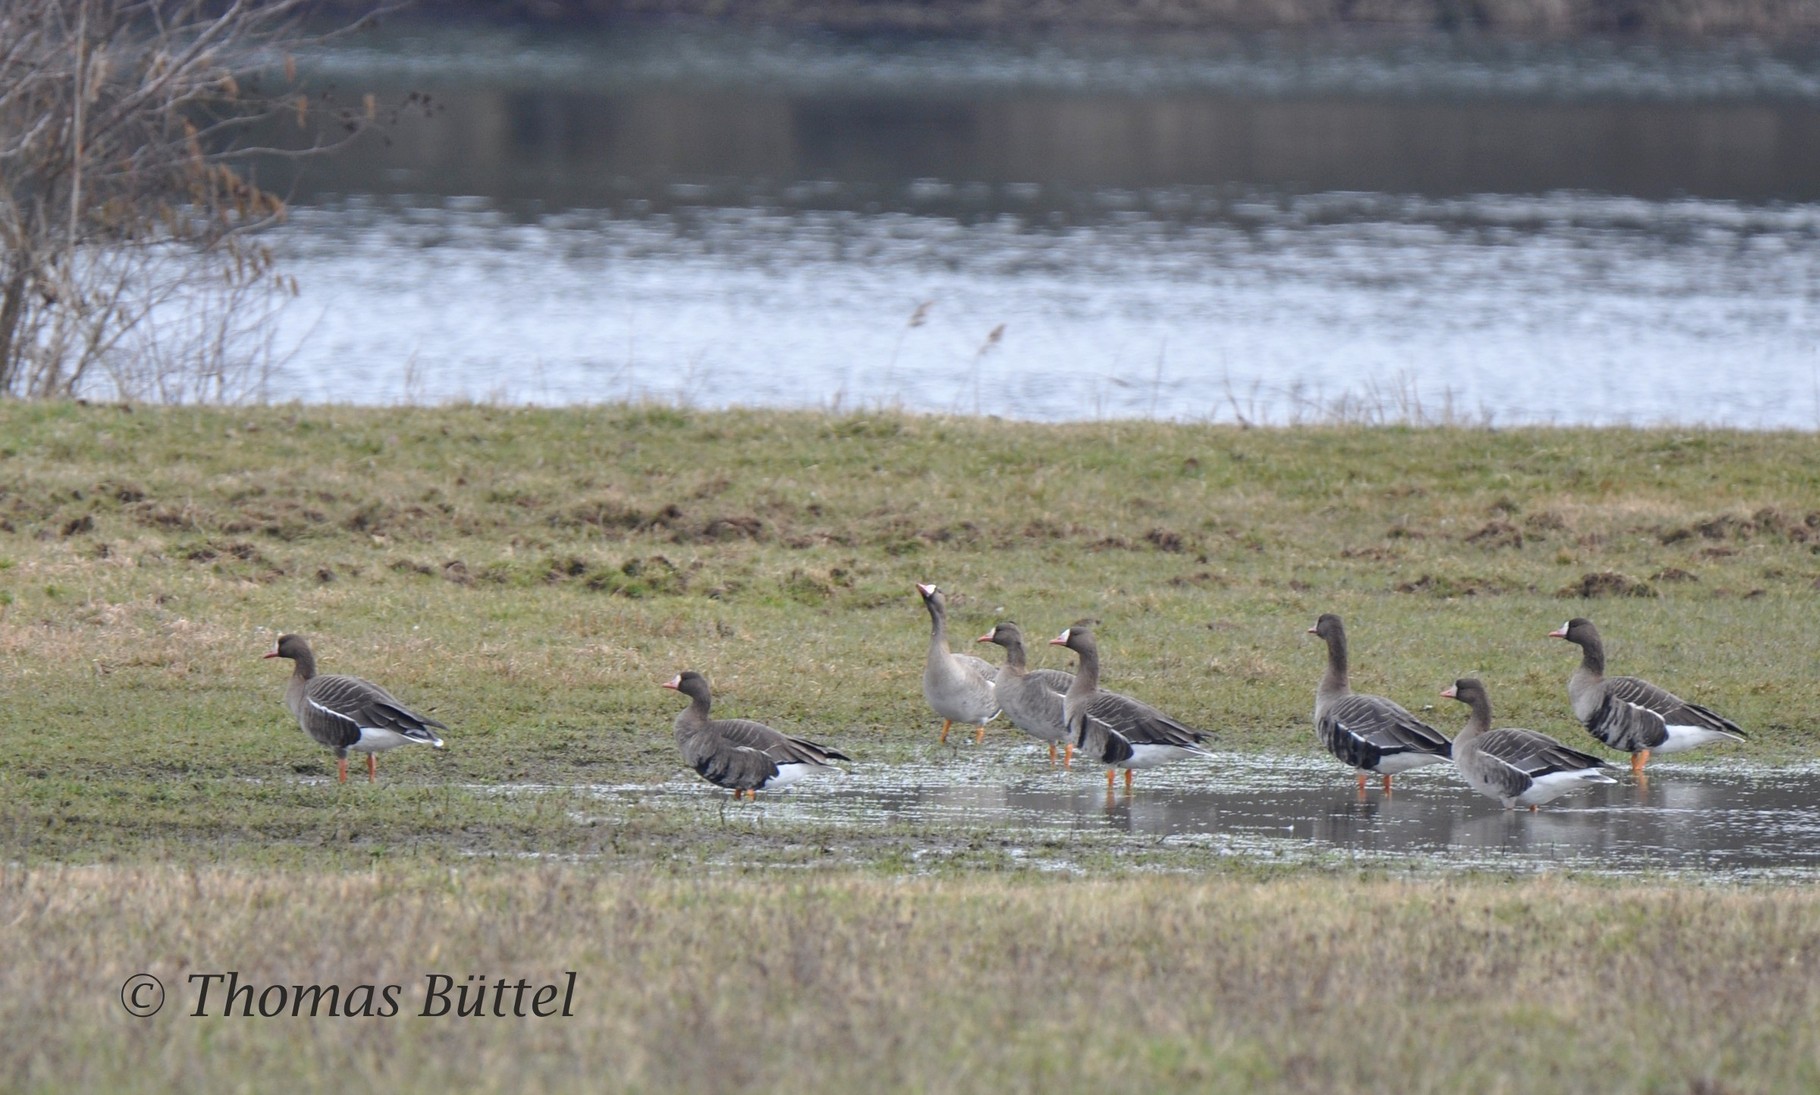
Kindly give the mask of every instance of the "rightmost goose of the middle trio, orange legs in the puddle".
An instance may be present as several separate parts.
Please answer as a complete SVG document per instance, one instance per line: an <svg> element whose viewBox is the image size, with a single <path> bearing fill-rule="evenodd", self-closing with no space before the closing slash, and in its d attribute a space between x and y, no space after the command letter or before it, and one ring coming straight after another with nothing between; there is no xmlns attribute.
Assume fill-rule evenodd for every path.
<svg viewBox="0 0 1820 1095"><path fill-rule="evenodd" d="M1107 766L1107 791L1112 791L1112 775L1119 768L1125 769L1125 789L1130 791L1132 771L1138 768L1156 768L1183 757L1212 757L1201 748L1205 731L1176 722L1150 704L1099 688L1099 644L1090 628L1077 624L1048 642L1065 646L1081 658L1074 684L1063 697L1063 711L1076 749Z"/></svg>

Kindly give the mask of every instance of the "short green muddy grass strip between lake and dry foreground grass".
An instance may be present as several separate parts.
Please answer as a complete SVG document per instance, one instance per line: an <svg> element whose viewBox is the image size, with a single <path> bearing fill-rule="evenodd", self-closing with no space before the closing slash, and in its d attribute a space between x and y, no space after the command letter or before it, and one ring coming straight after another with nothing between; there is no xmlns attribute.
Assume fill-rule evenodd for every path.
<svg viewBox="0 0 1820 1095"><path fill-rule="evenodd" d="M1097 618L1108 682L1223 749L1314 751L1320 611L1356 686L1414 706L1474 673L1502 722L1578 744L1574 651L1545 637L1571 615L1613 671L1742 722L1727 755L1807 758L1820 722L1809 435L13 404L0 438L22 857L593 851L561 800L488 788L670 779L657 682L682 668L728 715L937 760L917 580L963 644ZM260 660L280 629L451 748L322 795ZM617 839L641 824L673 839Z"/></svg>

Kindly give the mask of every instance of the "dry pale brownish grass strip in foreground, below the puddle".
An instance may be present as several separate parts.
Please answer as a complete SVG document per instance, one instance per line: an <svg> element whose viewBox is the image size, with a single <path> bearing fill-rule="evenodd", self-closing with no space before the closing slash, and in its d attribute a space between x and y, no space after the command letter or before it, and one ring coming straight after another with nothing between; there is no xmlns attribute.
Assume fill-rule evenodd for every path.
<svg viewBox="0 0 1820 1095"><path fill-rule="evenodd" d="M1800 1091L1816 913L1558 880L11 869L0 1066L22 1091ZM217 990L195 1017L187 979L228 969L400 1008L224 1017ZM419 1015L430 973L570 969L568 1019ZM158 1015L122 1013L135 973Z"/></svg>

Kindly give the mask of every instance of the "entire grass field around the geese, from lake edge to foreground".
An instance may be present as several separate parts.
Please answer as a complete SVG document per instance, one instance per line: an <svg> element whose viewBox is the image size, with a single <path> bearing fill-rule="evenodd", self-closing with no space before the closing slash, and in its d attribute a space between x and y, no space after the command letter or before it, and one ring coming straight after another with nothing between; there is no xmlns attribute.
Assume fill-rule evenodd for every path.
<svg viewBox="0 0 1820 1095"><path fill-rule="evenodd" d="M1420 704L1472 673L1500 722L1587 746L1576 651L1547 638L1587 615L1613 671L1751 731L1713 755L1807 760L1816 480L1809 435L1693 429L0 404L0 1068L47 1091L1811 1090L1798 888L1116 840L1056 879L992 833L573 788L675 779L657 684L682 668L861 764L939 762L917 580L957 638L1096 618L1108 684L1221 749L1314 753L1321 611L1358 688ZM337 788L260 658L280 629L450 749ZM932 840L983 851L930 871ZM577 969L581 1008L120 1011L133 971L175 1000L218 968Z"/></svg>

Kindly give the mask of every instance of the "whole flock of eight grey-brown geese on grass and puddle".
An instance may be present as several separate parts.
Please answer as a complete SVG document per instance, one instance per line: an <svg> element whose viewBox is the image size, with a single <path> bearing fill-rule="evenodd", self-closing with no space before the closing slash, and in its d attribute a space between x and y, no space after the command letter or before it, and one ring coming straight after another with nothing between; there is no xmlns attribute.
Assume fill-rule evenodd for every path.
<svg viewBox="0 0 1820 1095"><path fill-rule="evenodd" d="M1107 769L1107 789L1125 771L1132 788L1138 769L1187 757L1210 757L1201 744L1207 733L1123 693L1099 688L1099 648L1090 628L1076 624L1052 646L1076 653L1074 673L1030 669L1017 624L997 624L979 642L1005 648L1005 664L957 655L948 646L948 609L941 589L917 584L930 615L928 660L923 697L943 718L941 740L954 724L977 726L974 742L985 740L986 722L1003 713L1012 726L1048 742L1050 764L1057 746L1061 764L1079 751ZM1536 809L1589 784L1616 782L1605 760L1563 746L1545 733L1491 724L1491 697L1476 678L1456 680L1443 697L1467 706L1465 729L1452 740L1385 697L1356 693L1347 682L1347 631L1327 613L1309 633L1327 642L1327 671L1314 691L1314 731L1341 764L1367 779L1451 760L1478 793L1498 799L1505 809ZM1631 771L1642 779L1651 753L1680 753L1714 740L1744 740L1736 722L1689 704L1674 693L1636 677L1605 677L1605 651L1591 620L1572 618L1549 633L1580 648L1580 668L1567 680L1574 717L1605 746L1631 755ZM435 731L448 729L419 715L384 688L359 677L320 675L302 635L280 635L268 658L295 666L284 702L311 738L335 751L337 769L348 782L348 753L366 755L368 779L379 780L377 755L406 744L442 748ZM688 669L664 682L688 697L675 718L675 740L684 762L733 799L757 799L803 777L834 768L850 757L817 742L790 737L750 718L713 718L708 678Z"/></svg>

